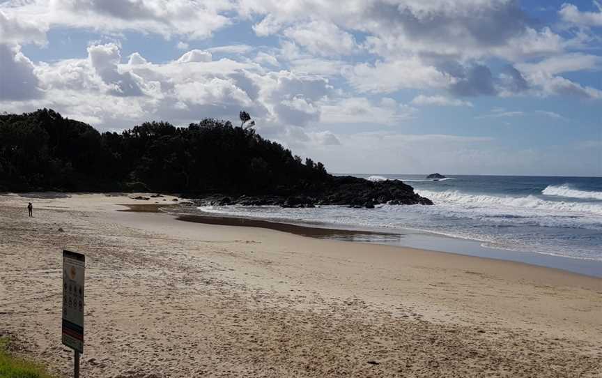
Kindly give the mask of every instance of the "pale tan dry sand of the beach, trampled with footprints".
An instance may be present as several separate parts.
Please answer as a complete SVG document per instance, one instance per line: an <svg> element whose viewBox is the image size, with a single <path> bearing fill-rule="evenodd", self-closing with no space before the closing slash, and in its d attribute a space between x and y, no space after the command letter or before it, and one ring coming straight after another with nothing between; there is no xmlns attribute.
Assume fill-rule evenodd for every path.
<svg viewBox="0 0 602 378"><path fill-rule="evenodd" d="M0 335L68 375L68 248L86 254L82 377L602 377L602 279L132 203L0 196Z"/></svg>

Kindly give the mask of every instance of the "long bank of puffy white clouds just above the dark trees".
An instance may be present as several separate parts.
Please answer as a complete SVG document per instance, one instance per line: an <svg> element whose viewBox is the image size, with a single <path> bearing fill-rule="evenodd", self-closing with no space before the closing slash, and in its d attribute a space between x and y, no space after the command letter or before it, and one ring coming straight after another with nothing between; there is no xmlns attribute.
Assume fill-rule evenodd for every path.
<svg viewBox="0 0 602 378"><path fill-rule="evenodd" d="M321 104L334 93L323 77L270 72L251 61L213 61L200 50L160 64L134 52L122 63L121 47L107 43L88 47L86 59L36 66L18 50L2 46L2 67L9 68L1 75L3 109L52 107L93 121L101 130L131 127L153 118L176 124L204 117L233 119L240 109L264 128L304 127L320 119ZM31 98L38 99L31 103ZM332 142L319 135L308 140L320 138Z"/></svg>

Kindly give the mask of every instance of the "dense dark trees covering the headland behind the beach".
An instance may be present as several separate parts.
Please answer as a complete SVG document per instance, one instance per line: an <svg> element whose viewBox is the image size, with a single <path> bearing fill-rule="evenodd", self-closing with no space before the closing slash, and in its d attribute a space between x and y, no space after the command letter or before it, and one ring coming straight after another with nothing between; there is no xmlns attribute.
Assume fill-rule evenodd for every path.
<svg viewBox="0 0 602 378"><path fill-rule="evenodd" d="M327 178L324 166L241 126L146 122L98 133L51 109L0 115L0 190L287 192ZM253 122L247 123L252 125ZM144 183L141 186L140 183Z"/></svg>

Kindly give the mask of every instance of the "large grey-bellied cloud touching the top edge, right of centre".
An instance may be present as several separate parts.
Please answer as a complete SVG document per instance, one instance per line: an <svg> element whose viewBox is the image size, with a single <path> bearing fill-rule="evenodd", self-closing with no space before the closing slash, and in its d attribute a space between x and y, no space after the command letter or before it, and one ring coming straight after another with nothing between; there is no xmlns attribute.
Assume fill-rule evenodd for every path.
<svg viewBox="0 0 602 378"><path fill-rule="evenodd" d="M386 60L412 55L461 61L495 55L516 60L562 48L562 38L549 28L537 29L515 0L350 0L346 6L319 0L241 0L240 13L251 19L263 16L254 26L259 36L307 29L302 25L308 19L318 23L314 29L324 36L333 35L328 30L359 31L366 35L364 47ZM321 38L311 42L316 40ZM298 38L295 43L302 45Z"/></svg>

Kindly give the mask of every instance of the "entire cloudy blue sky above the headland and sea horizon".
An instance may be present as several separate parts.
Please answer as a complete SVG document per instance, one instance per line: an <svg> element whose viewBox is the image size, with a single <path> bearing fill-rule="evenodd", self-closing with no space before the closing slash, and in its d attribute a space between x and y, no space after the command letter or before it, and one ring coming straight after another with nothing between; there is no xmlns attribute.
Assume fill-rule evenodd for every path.
<svg viewBox="0 0 602 378"><path fill-rule="evenodd" d="M244 109L338 173L602 176L602 1L0 0L0 112Z"/></svg>

